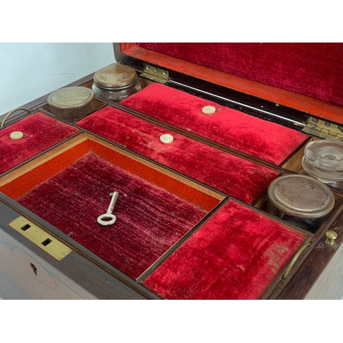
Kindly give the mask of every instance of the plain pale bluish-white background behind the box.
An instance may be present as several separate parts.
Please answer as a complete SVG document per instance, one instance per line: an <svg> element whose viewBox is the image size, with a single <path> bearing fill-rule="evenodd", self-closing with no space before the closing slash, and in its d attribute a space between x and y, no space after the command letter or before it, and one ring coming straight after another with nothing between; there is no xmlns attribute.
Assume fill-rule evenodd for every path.
<svg viewBox="0 0 343 343"><path fill-rule="evenodd" d="M0 43L0 115L113 62L112 43Z"/></svg>

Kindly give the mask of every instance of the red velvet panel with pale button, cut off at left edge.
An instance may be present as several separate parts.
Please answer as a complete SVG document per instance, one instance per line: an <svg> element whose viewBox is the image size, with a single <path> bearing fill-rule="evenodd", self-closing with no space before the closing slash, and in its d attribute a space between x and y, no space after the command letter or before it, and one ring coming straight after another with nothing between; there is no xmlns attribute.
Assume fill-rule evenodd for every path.
<svg viewBox="0 0 343 343"><path fill-rule="evenodd" d="M11 139L10 134L14 131L23 132L23 138ZM0 174L71 137L78 131L77 128L41 112L29 115L3 128L0 130Z"/></svg>

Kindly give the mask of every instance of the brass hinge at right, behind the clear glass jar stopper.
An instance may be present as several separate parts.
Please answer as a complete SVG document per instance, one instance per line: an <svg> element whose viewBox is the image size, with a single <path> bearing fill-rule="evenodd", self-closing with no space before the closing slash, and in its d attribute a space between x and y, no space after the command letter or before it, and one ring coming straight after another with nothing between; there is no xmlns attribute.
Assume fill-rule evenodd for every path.
<svg viewBox="0 0 343 343"><path fill-rule="evenodd" d="M343 126L322 119L309 117L303 131L324 139L343 140Z"/></svg>

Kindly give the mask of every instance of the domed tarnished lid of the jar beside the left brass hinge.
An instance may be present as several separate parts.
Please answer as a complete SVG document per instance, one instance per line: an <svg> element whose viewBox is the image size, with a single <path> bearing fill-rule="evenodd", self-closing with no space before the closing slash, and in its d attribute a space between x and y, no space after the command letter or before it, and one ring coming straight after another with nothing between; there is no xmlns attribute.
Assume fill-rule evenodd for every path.
<svg viewBox="0 0 343 343"><path fill-rule="evenodd" d="M106 89L128 88L138 80L136 71L122 64L110 64L94 74L94 83Z"/></svg>

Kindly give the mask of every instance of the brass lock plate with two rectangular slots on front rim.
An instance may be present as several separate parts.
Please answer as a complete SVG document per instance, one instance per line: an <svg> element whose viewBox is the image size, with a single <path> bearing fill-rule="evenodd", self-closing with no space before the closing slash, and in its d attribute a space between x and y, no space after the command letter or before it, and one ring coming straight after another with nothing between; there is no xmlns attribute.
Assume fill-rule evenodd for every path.
<svg viewBox="0 0 343 343"><path fill-rule="evenodd" d="M58 261L73 251L69 246L63 244L56 237L49 235L43 228L23 216L16 218L8 225Z"/></svg>

